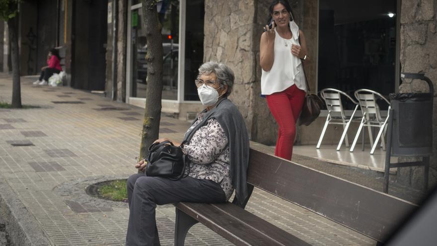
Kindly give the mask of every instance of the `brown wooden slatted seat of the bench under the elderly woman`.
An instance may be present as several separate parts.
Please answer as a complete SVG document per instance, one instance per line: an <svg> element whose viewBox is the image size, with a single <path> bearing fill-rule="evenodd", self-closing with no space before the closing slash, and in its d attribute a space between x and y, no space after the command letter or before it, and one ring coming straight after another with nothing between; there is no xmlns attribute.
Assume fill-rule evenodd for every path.
<svg viewBox="0 0 437 246"><path fill-rule="evenodd" d="M222 204L180 202L175 206L235 245L309 245L229 202Z"/></svg>

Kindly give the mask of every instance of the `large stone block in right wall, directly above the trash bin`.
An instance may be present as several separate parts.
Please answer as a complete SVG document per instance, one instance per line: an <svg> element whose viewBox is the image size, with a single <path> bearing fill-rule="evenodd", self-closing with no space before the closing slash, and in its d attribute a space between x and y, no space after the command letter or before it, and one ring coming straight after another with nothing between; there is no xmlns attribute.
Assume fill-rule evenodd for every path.
<svg viewBox="0 0 437 246"><path fill-rule="evenodd" d="M407 73L419 73L429 68L429 53L423 45L407 46L404 60L402 71Z"/></svg>

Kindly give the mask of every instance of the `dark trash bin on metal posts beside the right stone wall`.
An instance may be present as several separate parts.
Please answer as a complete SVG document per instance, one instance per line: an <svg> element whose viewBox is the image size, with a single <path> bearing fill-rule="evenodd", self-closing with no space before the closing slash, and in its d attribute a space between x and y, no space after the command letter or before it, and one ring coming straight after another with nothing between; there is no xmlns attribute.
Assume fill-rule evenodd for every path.
<svg viewBox="0 0 437 246"><path fill-rule="evenodd" d="M424 166L425 190L428 189L430 156L433 155L433 82L424 74L402 73L402 78L426 81L429 93L391 93L384 192L388 193L391 167ZM421 162L390 163L391 156L422 157Z"/></svg>

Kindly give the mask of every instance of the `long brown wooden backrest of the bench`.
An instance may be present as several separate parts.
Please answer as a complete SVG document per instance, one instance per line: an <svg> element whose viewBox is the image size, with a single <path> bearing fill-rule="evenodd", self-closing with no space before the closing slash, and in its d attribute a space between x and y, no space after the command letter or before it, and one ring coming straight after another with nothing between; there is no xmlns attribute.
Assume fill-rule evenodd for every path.
<svg viewBox="0 0 437 246"><path fill-rule="evenodd" d="M385 242L415 209L408 201L250 149L247 182Z"/></svg>

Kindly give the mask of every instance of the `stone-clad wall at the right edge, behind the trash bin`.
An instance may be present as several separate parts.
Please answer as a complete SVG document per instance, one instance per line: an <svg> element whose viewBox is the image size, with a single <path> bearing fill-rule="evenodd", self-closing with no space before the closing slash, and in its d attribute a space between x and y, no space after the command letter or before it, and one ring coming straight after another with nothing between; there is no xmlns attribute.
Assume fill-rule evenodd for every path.
<svg viewBox="0 0 437 246"><path fill-rule="evenodd" d="M430 187L437 183L437 0L403 0L401 7L401 72L425 73L434 82L433 143ZM403 80L400 92L428 92L428 84ZM397 181L423 187L423 167L398 169Z"/></svg>

